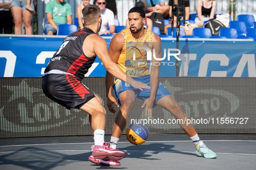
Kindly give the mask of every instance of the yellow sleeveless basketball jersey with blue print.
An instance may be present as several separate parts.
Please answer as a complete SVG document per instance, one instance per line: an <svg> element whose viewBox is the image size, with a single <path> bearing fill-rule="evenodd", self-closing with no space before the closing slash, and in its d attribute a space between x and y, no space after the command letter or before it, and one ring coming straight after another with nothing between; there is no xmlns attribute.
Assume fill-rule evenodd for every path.
<svg viewBox="0 0 256 170"><path fill-rule="evenodd" d="M123 49L121 50L117 64L131 77L149 75L150 72L146 50L139 49L139 47L147 47L152 51L152 31L146 29L145 34L140 40L134 38L130 28L126 28L122 30L122 32ZM135 60L133 60L134 58Z"/></svg>

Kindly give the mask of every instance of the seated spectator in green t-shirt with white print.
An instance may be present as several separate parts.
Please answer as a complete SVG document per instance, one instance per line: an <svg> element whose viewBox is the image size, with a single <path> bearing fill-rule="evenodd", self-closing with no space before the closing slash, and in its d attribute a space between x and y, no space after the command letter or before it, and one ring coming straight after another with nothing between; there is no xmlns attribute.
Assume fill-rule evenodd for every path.
<svg viewBox="0 0 256 170"><path fill-rule="evenodd" d="M71 6L64 0L52 0L47 3L45 13L48 21L47 35L55 35L60 24L72 24Z"/></svg>

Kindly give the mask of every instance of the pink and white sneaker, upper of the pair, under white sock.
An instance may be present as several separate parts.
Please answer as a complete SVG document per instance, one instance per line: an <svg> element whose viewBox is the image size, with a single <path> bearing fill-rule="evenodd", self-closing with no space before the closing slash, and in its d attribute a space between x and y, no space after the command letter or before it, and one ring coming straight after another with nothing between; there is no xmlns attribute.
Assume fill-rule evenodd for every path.
<svg viewBox="0 0 256 170"><path fill-rule="evenodd" d="M109 158L110 160L118 161L125 156L124 152L119 151L118 149L112 149L108 145L106 145L106 143L104 143L103 146L92 145L91 148L91 156L93 156L96 159Z"/></svg>

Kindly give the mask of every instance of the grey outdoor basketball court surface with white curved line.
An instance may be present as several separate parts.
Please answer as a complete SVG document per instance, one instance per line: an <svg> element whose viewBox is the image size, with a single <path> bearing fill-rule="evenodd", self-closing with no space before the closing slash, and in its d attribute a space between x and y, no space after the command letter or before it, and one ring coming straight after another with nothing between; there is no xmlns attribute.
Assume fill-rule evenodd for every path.
<svg viewBox="0 0 256 170"><path fill-rule="evenodd" d="M105 136L109 142L111 135ZM255 170L255 134L199 134L217 154L216 159L198 157L186 134L150 133L142 145L132 145L122 135L117 148L126 153L120 166L88 161L92 135L0 139L0 170Z"/></svg>

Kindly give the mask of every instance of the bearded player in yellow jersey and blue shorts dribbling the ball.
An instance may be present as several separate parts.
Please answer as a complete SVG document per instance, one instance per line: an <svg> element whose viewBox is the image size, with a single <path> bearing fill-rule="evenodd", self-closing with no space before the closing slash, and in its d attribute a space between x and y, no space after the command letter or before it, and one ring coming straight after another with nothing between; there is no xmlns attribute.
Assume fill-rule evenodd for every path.
<svg viewBox="0 0 256 170"><path fill-rule="evenodd" d="M128 120L128 116L135 104L136 98L145 101L142 107L146 106L145 114L148 114L149 117L152 117L152 107L159 105L172 113L176 119L182 119L184 122L185 119L188 119L188 116L182 110L181 106L174 100L164 85L159 82L160 66L152 64L151 72L149 72L148 67L145 64L139 68L139 71L137 71L138 65L136 65L136 61L133 61L133 56L128 54L126 56L126 52L131 48L137 47L137 45L137 48L139 48L139 43L137 42L140 42L140 45L144 44L144 46L147 46L150 49L155 48L157 58L162 57L160 37L143 27L145 22L144 10L140 7L133 7L128 13L128 19L130 28L124 29L112 38L109 46L109 54L113 62L117 63L128 76L131 76L136 81L147 83L147 85L150 85L151 89L143 89L143 91L141 91L132 88L129 84L127 85L123 81L114 78L109 72L106 72L107 106L111 112L115 113L116 110L113 109L113 104L116 104L117 107L119 107L118 103L121 105L113 125L113 132L110 139L111 148L117 147L117 142L126 126L126 120ZM130 41L133 41L135 44L137 43L136 46L134 46L132 42L132 46L130 46L128 43ZM136 57L136 60L146 60L146 51L143 51L142 49L140 49L140 51L142 55L140 58ZM152 57L151 63L155 62L157 62L157 60ZM118 103L112 96L112 86L116 92ZM185 130L196 145L196 153L199 156L205 158L216 157L216 154L208 149L199 139L192 124L179 125Z"/></svg>

